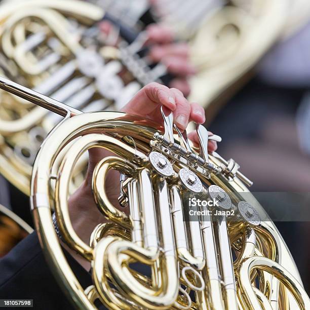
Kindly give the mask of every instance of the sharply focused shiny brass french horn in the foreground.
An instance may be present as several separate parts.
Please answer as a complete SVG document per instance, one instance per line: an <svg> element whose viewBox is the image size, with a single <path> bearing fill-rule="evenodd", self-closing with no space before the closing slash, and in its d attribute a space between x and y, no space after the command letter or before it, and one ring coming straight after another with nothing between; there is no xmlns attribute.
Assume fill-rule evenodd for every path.
<svg viewBox="0 0 310 310"><path fill-rule="evenodd" d="M0 78L0 88L62 117L36 156L31 210L53 273L76 308L95 309L308 309L292 256L275 224L247 186L251 181L233 160L208 153L208 134L197 126L200 152L162 112L164 128L121 112L85 112ZM94 199L107 222L83 242L68 213L74 165L93 147L115 155L102 159L92 176ZM106 175L121 173L120 204L106 195ZM186 218L186 201L217 199L225 214ZM91 262L93 285L82 287L60 246ZM211 207L210 207L211 208ZM209 207L208 207L209 210ZM186 220L187 219L187 220ZM131 268L151 268L146 276Z"/></svg>

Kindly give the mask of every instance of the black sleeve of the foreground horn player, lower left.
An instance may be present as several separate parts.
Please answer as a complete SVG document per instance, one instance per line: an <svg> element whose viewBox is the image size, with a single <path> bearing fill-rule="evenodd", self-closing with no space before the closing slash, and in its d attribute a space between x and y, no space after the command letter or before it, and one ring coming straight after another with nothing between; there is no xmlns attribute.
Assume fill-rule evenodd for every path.
<svg viewBox="0 0 310 310"><path fill-rule="evenodd" d="M65 255L82 287L91 285L89 273ZM0 260L0 298L33 299L34 309L73 309L45 261L36 232Z"/></svg>

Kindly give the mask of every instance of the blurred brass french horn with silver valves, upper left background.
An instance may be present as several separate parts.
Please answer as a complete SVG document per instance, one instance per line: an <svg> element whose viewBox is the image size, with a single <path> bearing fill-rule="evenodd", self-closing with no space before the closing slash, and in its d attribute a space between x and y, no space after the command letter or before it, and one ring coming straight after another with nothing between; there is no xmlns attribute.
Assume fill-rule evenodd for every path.
<svg viewBox="0 0 310 310"><path fill-rule="evenodd" d="M160 81L166 67L150 67L138 55L143 33L130 42L120 29L104 36L98 27L104 17L100 7L79 0L1 3L1 74L83 111L119 110L142 86ZM29 195L35 154L61 118L0 95L0 172ZM73 188L86 161L76 170Z"/></svg>

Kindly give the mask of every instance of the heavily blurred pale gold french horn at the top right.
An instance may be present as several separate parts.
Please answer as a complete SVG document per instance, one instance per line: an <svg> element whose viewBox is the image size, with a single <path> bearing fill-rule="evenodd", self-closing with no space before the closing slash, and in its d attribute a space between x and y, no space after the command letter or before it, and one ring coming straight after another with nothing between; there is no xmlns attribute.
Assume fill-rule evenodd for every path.
<svg viewBox="0 0 310 310"><path fill-rule="evenodd" d="M188 41L198 71L190 79L188 99L207 109L209 122L282 36L291 6L284 0L159 0L155 4L158 18Z"/></svg>

